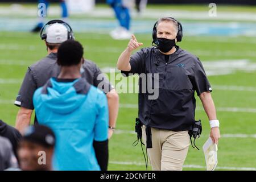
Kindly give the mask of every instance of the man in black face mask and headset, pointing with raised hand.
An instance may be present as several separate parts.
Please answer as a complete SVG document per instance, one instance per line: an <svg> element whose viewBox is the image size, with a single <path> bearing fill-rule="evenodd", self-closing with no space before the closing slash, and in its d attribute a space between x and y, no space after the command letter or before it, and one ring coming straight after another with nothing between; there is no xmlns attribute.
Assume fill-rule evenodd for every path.
<svg viewBox="0 0 256 182"><path fill-rule="evenodd" d="M209 118L210 137L214 143L220 138L219 122L210 94L212 88L203 65L199 58L176 46L176 42L182 39L182 31L176 19L160 18L153 28L154 46L131 55L142 46L133 35L117 62L117 68L126 76L158 74L158 98L149 100L149 92L139 93L142 138L145 143L152 141L152 148L147 148L147 152L153 170L182 170L189 147L188 131L195 122L195 91ZM154 82L154 77L147 79ZM139 88L143 86L144 82L139 81Z"/></svg>

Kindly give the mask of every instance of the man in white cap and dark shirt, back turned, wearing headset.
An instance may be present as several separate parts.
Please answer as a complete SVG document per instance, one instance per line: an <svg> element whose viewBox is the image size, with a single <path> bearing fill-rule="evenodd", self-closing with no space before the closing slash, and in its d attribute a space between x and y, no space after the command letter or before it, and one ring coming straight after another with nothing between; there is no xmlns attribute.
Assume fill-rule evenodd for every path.
<svg viewBox="0 0 256 182"><path fill-rule="evenodd" d="M74 39L72 28L68 23L62 20L51 20L42 28L40 36L46 42L48 55L37 63L31 65L27 69L26 76L20 87L18 96L15 100L15 105L20 109L16 116L16 129L21 133L28 125L30 125L32 111L34 105L32 96L36 89L46 84L51 77L57 77L60 73L60 66L57 65L57 51L61 43L68 39ZM109 80L102 75L100 68L97 67L90 60L85 60L81 67L81 75L89 84L98 87L104 85L102 91L106 94L109 106L109 138L112 136L115 123L118 115L119 97L117 92L109 82ZM98 76L101 80L98 80ZM103 78L102 78L103 77ZM104 82L104 84L102 84ZM108 85L108 86L106 86ZM37 123L35 115L35 123Z"/></svg>

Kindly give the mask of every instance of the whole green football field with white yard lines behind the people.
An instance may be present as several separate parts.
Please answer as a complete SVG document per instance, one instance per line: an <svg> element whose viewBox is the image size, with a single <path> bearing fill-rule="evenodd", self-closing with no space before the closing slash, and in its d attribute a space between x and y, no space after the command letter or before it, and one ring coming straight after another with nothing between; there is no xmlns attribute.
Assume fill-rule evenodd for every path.
<svg viewBox="0 0 256 182"><path fill-rule="evenodd" d="M0 4L0 8L5 6ZM27 7L33 6L27 5ZM193 9L194 6L176 5L175 7L176 10L179 8L181 10L196 9ZM108 9L105 6L101 8ZM153 7L151 8L153 11ZM167 9L166 6L157 6L157 8ZM201 11L203 7L197 7L197 9ZM229 7L221 7L223 12L226 12L225 9L229 10L229 13L231 10L237 13L247 9L246 12L256 12L256 7L233 7L233 9L230 8L231 10ZM1 15L0 21L5 22L10 16ZM22 21L19 17L12 16L12 18L16 18L18 23L19 20ZM71 17L71 22L76 19L77 17L73 19ZM79 19L82 21L81 17ZM104 17L97 17L97 21L101 20L103 23L104 19ZM36 22L35 17L28 17L27 20L31 20L32 23ZM86 20L93 22L94 19L88 15ZM116 23L111 18L108 21ZM134 18L135 23L136 21L143 22L143 18ZM155 19L145 18L146 29L151 27L154 21ZM225 22L229 21L233 22L232 20ZM255 24L254 19L251 22ZM181 19L181 23L188 23L187 27L189 27L197 23L197 20L184 18L184 21ZM243 24L241 21L240 23ZM246 24L246 26L250 29L251 24ZM201 28L204 28L203 25ZM4 26L8 24L2 24L2 27ZM26 28L27 25L20 24L20 26ZM88 25L85 24L85 26ZM225 23L222 26L225 26ZM104 30L104 26L100 28ZM126 48L128 40L113 40L108 34L112 27L105 26L105 28L107 31L100 33L77 31L75 36L76 40L84 46L85 58L93 60L106 74L110 75L108 69L115 67L118 56ZM79 28L75 29L79 30ZM256 32L255 26L251 29L250 32ZM138 42L142 42L143 47L151 46L151 29L143 31L135 31ZM216 170L256 170L256 36L255 34L230 36L222 35L222 30L216 31L220 31L220 35L184 34L183 42L178 45L200 57L212 85L212 97L217 109L217 118L220 120L222 136L218 144ZM18 107L13 102L27 67L42 59L46 54L46 46L38 34L11 28L10 30L0 29L0 119L10 125L15 125ZM115 84L117 82L118 80ZM199 139L196 139L200 151L189 147L184 170L205 170L205 159L201 147L209 137L210 127L203 106L199 98L195 97L197 100L196 119L203 121L203 133ZM119 102L117 130L109 142L109 170L145 170L141 146L139 144L136 147L132 146L137 138L133 131L135 117L138 113L138 96L135 93L120 93Z"/></svg>

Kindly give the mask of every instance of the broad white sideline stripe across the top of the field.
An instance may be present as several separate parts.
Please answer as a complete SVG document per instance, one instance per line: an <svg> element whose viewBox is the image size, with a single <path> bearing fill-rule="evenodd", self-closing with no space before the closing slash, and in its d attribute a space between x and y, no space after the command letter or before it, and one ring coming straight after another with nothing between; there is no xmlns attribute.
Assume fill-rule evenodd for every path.
<svg viewBox="0 0 256 182"><path fill-rule="evenodd" d="M241 13L242 12L242 13ZM256 14L253 12L224 12L219 11L218 16L214 17L216 20L256 20ZM48 9L48 15L57 15L59 16L61 13L61 9L59 6L50 6ZM31 7L19 6L19 7L0 7L0 15L24 15L26 16L35 16L36 9ZM131 11L132 16L136 16L134 10ZM208 11L191 11L188 10L171 10L172 16L177 19L212 19L208 15ZM93 11L88 13L83 13L83 15L91 16L91 17L113 17L113 11L109 8L104 7L96 7ZM170 10L163 10L163 9L150 9L147 8L144 10L142 14L142 18L154 18L155 17L163 17L163 16L170 16Z"/></svg>

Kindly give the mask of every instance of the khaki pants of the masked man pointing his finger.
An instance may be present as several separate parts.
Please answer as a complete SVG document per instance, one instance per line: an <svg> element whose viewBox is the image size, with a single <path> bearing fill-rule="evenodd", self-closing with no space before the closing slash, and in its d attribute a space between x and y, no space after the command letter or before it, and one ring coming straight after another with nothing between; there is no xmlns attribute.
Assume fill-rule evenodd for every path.
<svg viewBox="0 0 256 182"><path fill-rule="evenodd" d="M146 126L142 126L142 138L146 144ZM188 154L188 131L171 131L151 127L152 148L147 148L154 171L181 171Z"/></svg>

